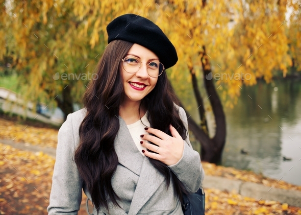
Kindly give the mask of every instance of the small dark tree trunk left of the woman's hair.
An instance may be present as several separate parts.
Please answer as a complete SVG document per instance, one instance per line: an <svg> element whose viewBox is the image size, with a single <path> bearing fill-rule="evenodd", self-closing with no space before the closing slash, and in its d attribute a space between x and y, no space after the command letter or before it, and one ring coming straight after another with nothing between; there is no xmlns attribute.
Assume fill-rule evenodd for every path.
<svg viewBox="0 0 301 215"><path fill-rule="evenodd" d="M67 115L69 113L73 113L73 100L71 97L71 86L67 85L62 91L62 99L59 97L56 97L55 100L57 101L58 107L61 108L61 110L64 113L64 121L67 119Z"/></svg>

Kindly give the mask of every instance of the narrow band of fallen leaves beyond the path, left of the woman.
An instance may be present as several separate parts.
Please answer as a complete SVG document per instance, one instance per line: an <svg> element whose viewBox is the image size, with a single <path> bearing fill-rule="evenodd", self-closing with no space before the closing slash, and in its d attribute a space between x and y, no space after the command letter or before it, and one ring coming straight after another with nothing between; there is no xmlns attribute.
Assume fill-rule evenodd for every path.
<svg viewBox="0 0 301 215"><path fill-rule="evenodd" d="M58 130L20 124L0 117L0 139L27 142L42 147L57 147Z"/></svg>

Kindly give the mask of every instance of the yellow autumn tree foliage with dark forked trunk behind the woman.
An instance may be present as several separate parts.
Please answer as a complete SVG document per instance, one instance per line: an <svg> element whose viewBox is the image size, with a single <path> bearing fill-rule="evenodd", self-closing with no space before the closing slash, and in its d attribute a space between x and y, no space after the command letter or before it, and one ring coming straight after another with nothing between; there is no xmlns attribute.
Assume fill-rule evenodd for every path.
<svg viewBox="0 0 301 215"><path fill-rule="evenodd" d="M218 163L226 135L219 98L233 107L242 85L301 70L300 5L282 0L1 1L1 76L16 73L27 101L58 106L66 117L74 103L81 104L107 46L108 23L125 13L149 18L177 49L179 62L167 73L187 117L197 108L199 120L188 121L202 145L202 159ZM63 80L62 74L69 78ZM219 80L212 79L218 74ZM187 95L191 88L194 94Z"/></svg>

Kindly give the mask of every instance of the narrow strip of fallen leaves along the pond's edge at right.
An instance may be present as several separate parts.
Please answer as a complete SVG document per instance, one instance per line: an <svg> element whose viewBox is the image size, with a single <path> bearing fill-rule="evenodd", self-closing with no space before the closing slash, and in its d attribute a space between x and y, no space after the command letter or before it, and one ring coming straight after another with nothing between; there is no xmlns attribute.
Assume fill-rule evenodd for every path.
<svg viewBox="0 0 301 215"><path fill-rule="evenodd" d="M202 164L206 175L221 176L221 177L234 179L234 180L261 183L263 185L274 187L274 188L301 191L301 186L293 185L282 180L278 181L275 179L267 178L264 177L263 175L256 174L251 171L237 170L231 167L219 166L208 162L202 162Z"/></svg>

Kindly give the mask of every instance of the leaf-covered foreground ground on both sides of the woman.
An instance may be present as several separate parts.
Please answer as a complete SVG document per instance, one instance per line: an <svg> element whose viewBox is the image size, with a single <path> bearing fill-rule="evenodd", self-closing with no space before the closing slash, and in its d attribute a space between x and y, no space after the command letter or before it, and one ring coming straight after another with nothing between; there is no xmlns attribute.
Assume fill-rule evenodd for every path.
<svg viewBox="0 0 301 215"><path fill-rule="evenodd" d="M55 159L0 143L0 214L47 214ZM206 214L301 214L301 208L205 189ZM87 214L83 193L79 215ZM91 206L91 204L89 204ZM91 209L92 207L90 207Z"/></svg>

